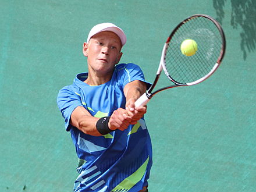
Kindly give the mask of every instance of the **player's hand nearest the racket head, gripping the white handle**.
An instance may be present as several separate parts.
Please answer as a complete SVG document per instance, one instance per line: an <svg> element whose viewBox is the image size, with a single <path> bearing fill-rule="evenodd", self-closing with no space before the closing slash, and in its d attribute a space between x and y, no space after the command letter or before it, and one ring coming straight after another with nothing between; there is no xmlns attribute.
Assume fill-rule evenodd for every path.
<svg viewBox="0 0 256 192"><path fill-rule="evenodd" d="M135 125L137 121L143 118L144 114L147 112L147 106L135 106L135 101L135 98L130 98L126 102L126 111L131 118L131 125Z"/></svg>

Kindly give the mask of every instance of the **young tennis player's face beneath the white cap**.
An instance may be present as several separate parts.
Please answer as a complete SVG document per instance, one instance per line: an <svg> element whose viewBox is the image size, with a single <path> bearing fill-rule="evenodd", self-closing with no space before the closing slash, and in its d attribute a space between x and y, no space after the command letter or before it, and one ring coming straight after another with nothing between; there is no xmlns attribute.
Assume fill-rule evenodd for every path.
<svg viewBox="0 0 256 192"><path fill-rule="evenodd" d="M112 73L122 56L121 48L120 38L115 33L103 31L95 34L83 47L89 73Z"/></svg>

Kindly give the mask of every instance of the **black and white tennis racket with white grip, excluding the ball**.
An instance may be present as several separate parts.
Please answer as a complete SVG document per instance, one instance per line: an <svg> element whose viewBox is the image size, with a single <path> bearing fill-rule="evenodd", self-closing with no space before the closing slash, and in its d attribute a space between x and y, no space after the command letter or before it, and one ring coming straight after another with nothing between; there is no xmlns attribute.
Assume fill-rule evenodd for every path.
<svg viewBox="0 0 256 192"><path fill-rule="evenodd" d="M181 44L187 39L194 40L197 44L194 55L186 56L181 51ZM183 20L172 31L163 46L154 83L137 99L135 105L146 105L160 91L173 87L193 86L206 80L221 64L225 48L225 34L214 18L208 15L193 15ZM152 92L162 70L172 85Z"/></svg>

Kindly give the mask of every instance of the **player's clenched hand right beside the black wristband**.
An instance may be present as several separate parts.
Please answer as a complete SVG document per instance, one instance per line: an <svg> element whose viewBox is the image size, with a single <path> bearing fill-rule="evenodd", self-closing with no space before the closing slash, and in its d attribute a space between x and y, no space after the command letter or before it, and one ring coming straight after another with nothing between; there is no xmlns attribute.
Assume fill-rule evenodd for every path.
<svg viewBox="0 0 256 192"><path fill-rule="evenodd" d="M127 129L131 124L131 117L127 114L127 111L123 108L115 110L108 122L108 127L111 130L119 129L121 131Z"/></svg>

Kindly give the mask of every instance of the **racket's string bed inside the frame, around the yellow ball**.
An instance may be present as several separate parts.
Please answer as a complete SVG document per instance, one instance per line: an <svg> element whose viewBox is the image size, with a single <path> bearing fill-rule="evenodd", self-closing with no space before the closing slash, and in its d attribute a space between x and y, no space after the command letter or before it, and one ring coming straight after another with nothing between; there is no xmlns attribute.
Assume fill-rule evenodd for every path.
<svg viewBox="0 0 256 192"><path fill-rule="evenodd" d="M197 42L192 56L182 54L180 45L186 39ZM165 55L166 71L177 83L186 84L207 76L222 48L222 38L215 24L205 17L195 17L182 24L173 34Z"/></svg>

